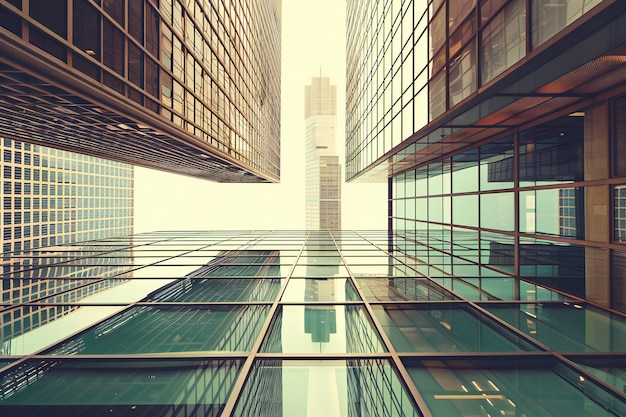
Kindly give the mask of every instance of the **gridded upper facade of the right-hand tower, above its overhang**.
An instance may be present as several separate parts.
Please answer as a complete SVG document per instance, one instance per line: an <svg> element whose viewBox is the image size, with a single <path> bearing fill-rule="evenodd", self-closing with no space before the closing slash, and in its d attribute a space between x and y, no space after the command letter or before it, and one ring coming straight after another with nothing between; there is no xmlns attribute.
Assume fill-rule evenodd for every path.
<svg viewBox="0 0 626 417"><path fill-rule="evenodd" d="M508 79L506 95L523 95L530 83L514 82L527 75L520 62L558 56L572 43L548 52L554 37L604 7L619 9L614 17L623 13L610 0L347 3L346 176L363 181L384 181L388 166L403 170L416 158L477 140L484 123L467 136L447 137L513 101L479 92L503 88L499 82ZM561 66L567 61L558 59ZM569 61L571 70L580 65ZM390 158L392 149L400 158Z"/></svg>

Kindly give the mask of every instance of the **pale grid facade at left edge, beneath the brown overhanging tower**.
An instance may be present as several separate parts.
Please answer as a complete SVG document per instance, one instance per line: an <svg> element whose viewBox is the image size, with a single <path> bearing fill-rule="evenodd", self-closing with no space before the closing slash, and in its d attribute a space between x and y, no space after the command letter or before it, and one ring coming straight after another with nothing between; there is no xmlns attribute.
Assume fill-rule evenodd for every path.
<svg viewBox="0 0 626 417"><path fill-rule="evenodd" d="M11 139L0 152L4 256L132 233L132 166Z"/></svg>

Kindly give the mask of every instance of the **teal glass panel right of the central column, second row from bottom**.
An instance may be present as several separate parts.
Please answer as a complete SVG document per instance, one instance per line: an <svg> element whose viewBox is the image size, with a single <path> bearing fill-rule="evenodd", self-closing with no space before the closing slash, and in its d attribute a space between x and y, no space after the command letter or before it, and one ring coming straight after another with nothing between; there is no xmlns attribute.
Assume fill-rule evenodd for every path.
<svg viewBox="0 0 626 417"><path fill-rule="evenodd" d="M398 352L513 352L528 344L467 309L372 306ZM506 334L507 337L504 335ZM520 347L521 346L521 347Z"/></svg>

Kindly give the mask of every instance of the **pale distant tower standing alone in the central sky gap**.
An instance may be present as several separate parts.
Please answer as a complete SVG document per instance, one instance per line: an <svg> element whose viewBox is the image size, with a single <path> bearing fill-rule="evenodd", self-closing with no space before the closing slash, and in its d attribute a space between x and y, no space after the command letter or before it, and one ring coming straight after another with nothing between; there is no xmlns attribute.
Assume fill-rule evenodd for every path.
<svg viewBox="0 0 626 417"><path fill-rule="evenodd" d="M308 230L341 230L341 164L337 155L337 87L313 77L304 88L305 216Z"/></svg>

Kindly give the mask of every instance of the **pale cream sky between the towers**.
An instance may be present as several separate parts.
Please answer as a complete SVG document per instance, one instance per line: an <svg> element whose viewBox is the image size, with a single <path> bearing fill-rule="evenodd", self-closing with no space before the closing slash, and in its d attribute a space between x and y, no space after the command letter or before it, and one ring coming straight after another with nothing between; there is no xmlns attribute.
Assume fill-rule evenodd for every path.
<svg viewBox="0 0 626 417"><path fill-rule="evenodd" d="M337 85L345 147L345 1L283 0L280 184L218 184L135 169L135 233L155 230L304 229L304 86ZM345 170L344 170L345 172ZM387 185L342 186L342 228L387 228Z"/></svg>

